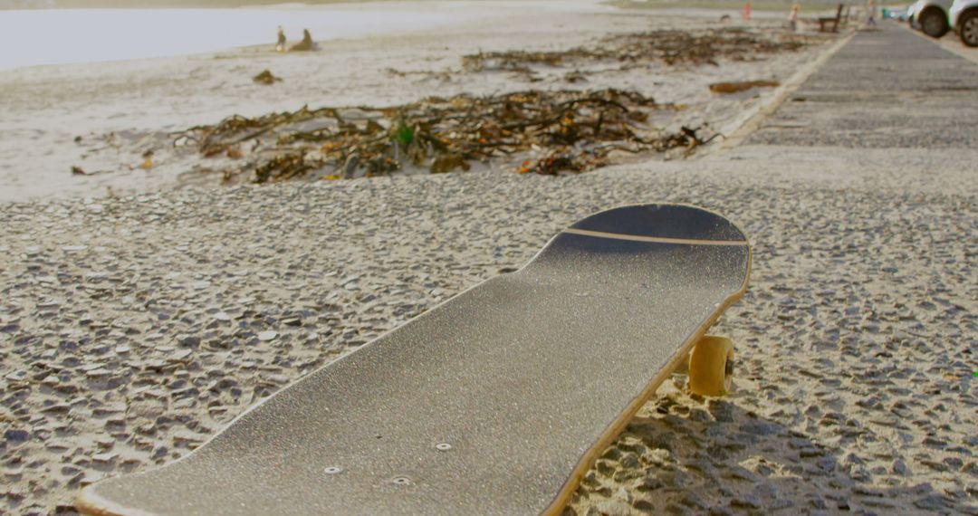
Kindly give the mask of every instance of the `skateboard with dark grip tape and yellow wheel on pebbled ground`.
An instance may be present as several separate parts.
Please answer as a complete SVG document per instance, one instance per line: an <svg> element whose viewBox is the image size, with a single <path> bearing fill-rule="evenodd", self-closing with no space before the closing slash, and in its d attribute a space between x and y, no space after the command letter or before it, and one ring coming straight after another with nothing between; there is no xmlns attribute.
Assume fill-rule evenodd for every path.
<svg viewBox="0 0 978 516"><path fill-rule="evenodd" d="M730 389L707 328L746 291L717 213L625 206L248 409L200 449L85 488L89 515L559 514L662 381Z"/></svg>

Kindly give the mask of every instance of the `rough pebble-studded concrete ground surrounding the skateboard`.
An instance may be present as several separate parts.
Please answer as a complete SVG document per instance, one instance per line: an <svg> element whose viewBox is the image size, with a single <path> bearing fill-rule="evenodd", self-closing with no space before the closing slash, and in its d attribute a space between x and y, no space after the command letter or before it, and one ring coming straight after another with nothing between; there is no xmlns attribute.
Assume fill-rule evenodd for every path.
<svg viewBox="0 0 978 516"><path fill-rule="evenodd" d="M747 295L713 330L736 341L736 392L667 382L577 513L974 514L976 192L954 176L919 191L893 154L863 153L858 174L851 154L794 173L734 154L7 204L3 507L43 513L182 456L567 224L654 199L720 210L754 242Z"/></svg>

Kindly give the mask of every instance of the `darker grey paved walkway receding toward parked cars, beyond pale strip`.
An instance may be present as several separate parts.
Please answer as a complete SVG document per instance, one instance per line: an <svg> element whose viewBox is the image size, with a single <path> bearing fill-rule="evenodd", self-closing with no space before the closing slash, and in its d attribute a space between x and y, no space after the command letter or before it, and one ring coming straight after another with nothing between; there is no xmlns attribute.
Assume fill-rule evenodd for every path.
<svg viewBox="0 0 978 516"><path fill-rule="evenodd" d="M881 27L857 34L747 144L978 149L978 64Z"/></svg>

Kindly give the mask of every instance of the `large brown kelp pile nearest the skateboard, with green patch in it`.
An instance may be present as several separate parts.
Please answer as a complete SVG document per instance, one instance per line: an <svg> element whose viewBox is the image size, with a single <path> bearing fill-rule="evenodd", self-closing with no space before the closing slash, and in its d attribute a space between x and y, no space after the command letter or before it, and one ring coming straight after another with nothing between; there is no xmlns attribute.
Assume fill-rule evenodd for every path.
<svg viewBox="0 0 978 516"><path fill-rule="evenodd" d="M696 129L664 133L649 123L652 111L675 108L616 89L460 95L390 108L235 115L178 133L174 145L223 158L213 169L225 182L444 173L493 160L521 173L558 174L595 169L617 152L705 143Z"/></svg>

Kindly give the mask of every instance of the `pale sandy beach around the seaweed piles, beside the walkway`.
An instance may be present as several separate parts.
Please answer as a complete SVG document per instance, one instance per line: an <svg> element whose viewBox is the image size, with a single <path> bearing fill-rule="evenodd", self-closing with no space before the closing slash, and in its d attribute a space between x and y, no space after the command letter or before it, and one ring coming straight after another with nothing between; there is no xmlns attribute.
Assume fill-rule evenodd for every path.
<svg viewBox="0 0 978 516"><path fill-rule="evenodd" d="M718 96L709 84L784 80L814 60L828 41L813 35L813 44L797 52L717 65L649 64L622 70L614 64L583 64L578 71L586 73L586 79L578 82L566 79L574 68L544 66L530 81L517 73L464 73L462 59L480 51L597 47L609 34L740 25L704 12L630 15L591 1L368 3L346 9L410 6L422 13L437 10L457 21L383 37L324 40L319 52L307 54L283 56L266 45L216 55L5 71L0 74L0 109L5 113L0 118L0 200L215 185L219 174L195 172L201 165L214 165L201 162L197 154L174 149L176 138L171 133L214 124L232 114L258 116L306 105L385 107L432 95L611 87L638 91L660 104L682 105L674 116L662 113L657 123L665 129L705 123L722 134L732 130L743 112L767 101L774 89ZM777 35L780 24L768 19L744 28ZM272 86L251 80L265 69L282 80ZM156 152L150 171L140 168L141 156L148 150ZM96 175L72 175L72 167Z"/></svg>

